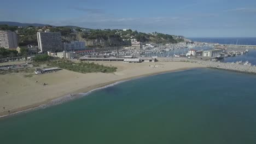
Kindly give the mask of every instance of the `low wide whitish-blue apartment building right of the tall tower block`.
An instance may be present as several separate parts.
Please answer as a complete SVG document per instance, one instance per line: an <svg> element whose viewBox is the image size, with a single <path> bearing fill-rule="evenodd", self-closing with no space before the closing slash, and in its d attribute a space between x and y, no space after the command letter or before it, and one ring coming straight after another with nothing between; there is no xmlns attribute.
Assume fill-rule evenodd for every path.
<svg viewBox="0 0 256 144"><path fill-rule="evenodd" d="M71 43L64 43L63 47L65 51L83 51L85 50L85 42L71 41Z"/></svg>

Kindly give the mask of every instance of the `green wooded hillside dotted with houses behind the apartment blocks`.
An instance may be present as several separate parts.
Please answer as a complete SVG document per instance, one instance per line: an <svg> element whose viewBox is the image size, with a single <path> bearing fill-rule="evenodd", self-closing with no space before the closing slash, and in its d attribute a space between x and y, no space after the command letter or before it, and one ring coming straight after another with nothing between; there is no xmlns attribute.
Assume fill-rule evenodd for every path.
<svg viewBox="0 0 256 144"><path fill-rule="evenodd" d="M9 26L0 25L0 30L15 31L18 33L19 46L37 45L38 31L49 30L50 32L61 32L62 41L69 43L70 41L85 41L87 47L117 47L130 46L132 40L138 40L142 43L178 43L183 41L184 37L176 35L168 35L162 33L142 33L127 29L88 29L75 26Z"/></svg>

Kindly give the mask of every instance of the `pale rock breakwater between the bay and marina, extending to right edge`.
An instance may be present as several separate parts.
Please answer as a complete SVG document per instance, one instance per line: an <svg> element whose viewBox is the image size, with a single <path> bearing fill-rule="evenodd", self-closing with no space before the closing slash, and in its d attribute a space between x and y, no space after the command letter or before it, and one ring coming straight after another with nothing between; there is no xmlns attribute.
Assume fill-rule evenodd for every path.
<svg viewBox="0 0 256 144"><path fill-rule="evenodd" d="M190 62L190 63L197 63L197 64L205 65L208 68L256 74L256 67L250 66L250 65L222 63L222 62L213 62L213 61L201 61L201 60L196 60L196 59L177 58L177 57L158 58L158 61L160 61L160 62Z"/></svg>

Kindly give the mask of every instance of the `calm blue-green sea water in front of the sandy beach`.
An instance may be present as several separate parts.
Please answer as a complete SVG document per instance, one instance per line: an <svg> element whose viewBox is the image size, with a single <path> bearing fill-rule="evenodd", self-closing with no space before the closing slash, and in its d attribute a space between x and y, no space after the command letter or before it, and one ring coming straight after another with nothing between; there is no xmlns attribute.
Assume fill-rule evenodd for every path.
<svg viewBox="0 0 256 144"><path fill-rule="evenodd" d="M256 143L256 75L193 69L0 119L0 143Z"/></svg>

